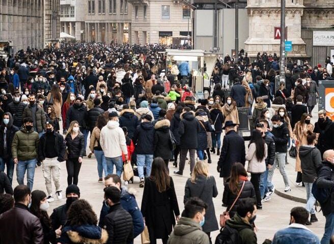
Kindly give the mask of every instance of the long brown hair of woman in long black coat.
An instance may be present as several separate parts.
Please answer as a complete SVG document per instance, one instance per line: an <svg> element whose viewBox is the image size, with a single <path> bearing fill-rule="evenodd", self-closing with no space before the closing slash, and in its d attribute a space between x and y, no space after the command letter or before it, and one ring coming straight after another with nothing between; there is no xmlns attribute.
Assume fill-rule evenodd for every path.
<svg viewBox="0 0 334 244"><path fill-rule="evenodd" d="M150 179L155 182L158 192L166 191L171 185L171 178L162 158L153 160Z"/></svg>

